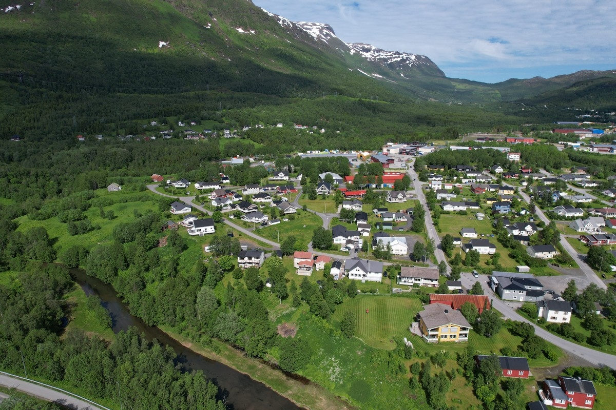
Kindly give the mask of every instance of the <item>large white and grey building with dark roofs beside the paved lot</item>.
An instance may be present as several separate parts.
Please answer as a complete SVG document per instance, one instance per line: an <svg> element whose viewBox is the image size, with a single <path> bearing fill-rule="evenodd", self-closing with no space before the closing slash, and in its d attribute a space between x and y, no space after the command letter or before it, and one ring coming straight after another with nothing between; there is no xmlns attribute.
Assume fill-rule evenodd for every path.
<svg viewBox="0 0 616 410"><path fill-rule="evenodd" d="M536 302L545 298L543 285L531 274L493 271L490 288L501 299L516 302Z"/></svg>

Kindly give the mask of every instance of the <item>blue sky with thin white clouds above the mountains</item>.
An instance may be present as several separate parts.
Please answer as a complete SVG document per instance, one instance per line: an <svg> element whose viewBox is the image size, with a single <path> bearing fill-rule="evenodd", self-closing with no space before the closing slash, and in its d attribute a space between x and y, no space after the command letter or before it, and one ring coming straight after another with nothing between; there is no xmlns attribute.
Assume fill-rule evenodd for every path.
<svg viewBox="0 0 616 410"><path fill-rule="evenodd" d="M608 0L253 0L294 22L327 23L345 42L429 57L482 82L616 69Z"/></svg>

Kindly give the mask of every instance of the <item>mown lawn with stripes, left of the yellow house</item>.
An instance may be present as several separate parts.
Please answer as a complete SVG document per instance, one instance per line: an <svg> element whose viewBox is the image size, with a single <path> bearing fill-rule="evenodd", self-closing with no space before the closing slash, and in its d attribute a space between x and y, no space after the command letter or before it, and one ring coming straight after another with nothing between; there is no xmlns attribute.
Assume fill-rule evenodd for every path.
<svg viewBox="0 0 616 410"><path fill-rule="evenodd" d="M366 313L366 310L370 313ZM378 349L394 349L394 336L405 336L415 314L421 310L418 298L397 296L363 296L348 299L334 313L334 322L342 320L346 310L357 315L359 337L367 345Z"/></svg>

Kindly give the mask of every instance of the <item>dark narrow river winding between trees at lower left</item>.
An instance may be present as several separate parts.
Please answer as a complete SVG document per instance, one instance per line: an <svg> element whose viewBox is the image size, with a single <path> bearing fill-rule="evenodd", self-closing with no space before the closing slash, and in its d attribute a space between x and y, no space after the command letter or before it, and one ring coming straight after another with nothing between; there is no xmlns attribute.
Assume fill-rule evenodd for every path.
<svg viewBox="0 0 616 410"><path fill-rule="evenodd" d="M96 294L103 306L111 313L113 331L118 333L134 326L145 334L148 340L156 339L169 345L176 352L177 361L184 371L201 370L214 382L219 393L217 398L225 400L229 410L299 410L293 402L279 395L261 382L251 379L229 366L203 357L184 347L161 329L146 325L140 318L129 312L128 306L118 298L113 286L89 277L83 270L71 269L75 282L87 295Z"/></svg>

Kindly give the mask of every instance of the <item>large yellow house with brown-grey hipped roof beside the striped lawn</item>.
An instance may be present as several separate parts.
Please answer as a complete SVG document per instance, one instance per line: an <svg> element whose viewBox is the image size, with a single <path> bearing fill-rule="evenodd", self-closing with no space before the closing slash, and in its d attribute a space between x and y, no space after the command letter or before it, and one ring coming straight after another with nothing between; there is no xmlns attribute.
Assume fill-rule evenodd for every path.
<svg viewBox="0 0 616 410"><path fill-rule="evenodd" d="M429 343L466 342L472 329L460 310L451 306L434 303L424 307L419 315L421 335Z"/></svg>

